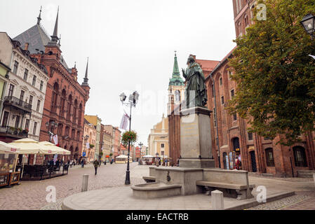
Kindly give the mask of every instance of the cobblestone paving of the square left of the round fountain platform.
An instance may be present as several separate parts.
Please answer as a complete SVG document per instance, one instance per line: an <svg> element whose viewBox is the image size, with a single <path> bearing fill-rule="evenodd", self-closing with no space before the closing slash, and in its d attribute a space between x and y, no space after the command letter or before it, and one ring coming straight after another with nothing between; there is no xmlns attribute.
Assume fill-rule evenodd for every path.
<svg viewBox="0 0 315 224"><path fill-rule="evenodd" d="M130 164L131 184L145 183L140 176L133 174L133 169L138 167L137 162ZM114 186L125 186L126 165L123 164L102 164L98 168L98 174L94 175L92 165L84 168L75 166L69 169L65 176L47 179L43 181L20 181L19 186L12 188L0 188L0 209L4 210L27 210L27 209L58 209L62 199L81 192L82 175L89 174L88 190L108 188ZM56 202L46 202L46 188L55 186Z"/></svg>

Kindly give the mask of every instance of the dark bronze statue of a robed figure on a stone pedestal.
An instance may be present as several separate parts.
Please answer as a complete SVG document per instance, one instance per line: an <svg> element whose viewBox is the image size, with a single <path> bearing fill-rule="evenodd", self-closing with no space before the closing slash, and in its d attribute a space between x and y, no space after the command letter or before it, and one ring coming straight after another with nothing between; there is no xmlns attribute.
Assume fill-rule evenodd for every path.
<svg viewBox="0 0 315 224"><path fill-rule="evenodd" d="M195 106L205 107L208 102L208 96L203 71L192 56L189 56L187 65L186 71L182 69L182 76L187 81L185 89L187 109Z"/></svg>

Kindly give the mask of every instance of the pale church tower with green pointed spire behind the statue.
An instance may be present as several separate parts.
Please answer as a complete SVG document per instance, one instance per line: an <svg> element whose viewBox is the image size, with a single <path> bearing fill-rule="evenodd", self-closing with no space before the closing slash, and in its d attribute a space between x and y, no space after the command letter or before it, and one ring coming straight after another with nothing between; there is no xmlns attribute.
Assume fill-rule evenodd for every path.
<svg viewBox="0 0 315 224"><path fill-rule="evenodd" d="M168 83L168 115L172 112L172 100L174 106L180 105L185 97L185 82L180 77L180 69L178 69L177 55L175 51L173 75ZM172 99L173 98L173 99Z"/></svg>

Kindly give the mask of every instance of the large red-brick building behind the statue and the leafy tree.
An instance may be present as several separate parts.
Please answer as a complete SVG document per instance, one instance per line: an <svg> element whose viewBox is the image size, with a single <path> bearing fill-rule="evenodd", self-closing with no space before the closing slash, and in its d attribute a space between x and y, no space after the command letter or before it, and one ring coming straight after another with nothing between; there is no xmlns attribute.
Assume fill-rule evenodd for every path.
<svg viewBox="0 0 315 224"><path fill-rule="evenodd" d="M255 1L233 0L236 37L246 34L252 24ZM235 48L234 48L235 49ZM208 90L208 109L213 111L211 119L212 150L216 167L234 168L234 158L241 155L241 169L273 176L299 176L315 169L315 133L302 135L302 141L293 146L276 144L276 139L265 139L247 132L248 123L237 114L230 115L225 107L236 94L236 83L230 78L229 58L233 51L220 62L196 59L203 69ZM173 99L172 99L173 100ZM172 104L171 104L172 105ZM170 129L170 155L179 155L180 117L179 106L173 104L168 116ZM177 113L176 113L177 112ZM220 156L220 164L219 164ZM301 175L302 176L302 175Z"/></svg>

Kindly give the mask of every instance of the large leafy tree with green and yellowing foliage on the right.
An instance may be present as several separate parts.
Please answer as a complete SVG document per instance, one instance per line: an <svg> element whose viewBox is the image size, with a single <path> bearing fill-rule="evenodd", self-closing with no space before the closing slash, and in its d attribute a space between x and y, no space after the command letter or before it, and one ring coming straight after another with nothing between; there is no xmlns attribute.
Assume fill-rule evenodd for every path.
<svg viewBox="0 0 315 224"><path fill-rule="evenodd" d="M300 21L315 15L315 0L265 0L267 20L257 20L237 38L230 66L236 95L229 112L239 113L249 131L290 146L300 134L314 131L315 40Z"/></svg>

